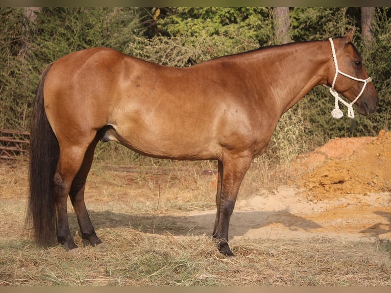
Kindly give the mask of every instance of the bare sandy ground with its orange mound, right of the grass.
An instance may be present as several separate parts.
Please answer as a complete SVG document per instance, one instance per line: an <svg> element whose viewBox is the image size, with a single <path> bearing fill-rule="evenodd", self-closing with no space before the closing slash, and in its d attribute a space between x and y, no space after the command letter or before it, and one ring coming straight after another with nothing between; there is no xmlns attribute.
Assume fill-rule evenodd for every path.
<svg viewBox="0 0 391 293"><path fill-rule="evenodd" d="M337 138L292 164L288 186L237 200L230 241L338 237L391 239L391 132ZM210 233L215 210L183 221ZM206 228L207 225L207 228Z"/></svg>

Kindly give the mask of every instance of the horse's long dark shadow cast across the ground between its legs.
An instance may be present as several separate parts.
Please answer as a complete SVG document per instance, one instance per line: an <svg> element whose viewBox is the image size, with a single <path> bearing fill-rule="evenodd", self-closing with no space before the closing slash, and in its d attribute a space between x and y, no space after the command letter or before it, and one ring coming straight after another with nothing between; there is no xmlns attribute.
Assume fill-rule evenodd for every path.
<svg viewBox="0 0 391 293"><path fill-rule="evenodd" d="M129 228L143 233L173 235L208 235L212 233L215 212L189 216L131 215L111 211L89 211L95 230ZM287 211L247 211L234 212L230 223L230 236L242 236L249 230L279 223L290 230L322 228L319 224ZM70 225L77 227L76 218L70 215Z"/></svg>

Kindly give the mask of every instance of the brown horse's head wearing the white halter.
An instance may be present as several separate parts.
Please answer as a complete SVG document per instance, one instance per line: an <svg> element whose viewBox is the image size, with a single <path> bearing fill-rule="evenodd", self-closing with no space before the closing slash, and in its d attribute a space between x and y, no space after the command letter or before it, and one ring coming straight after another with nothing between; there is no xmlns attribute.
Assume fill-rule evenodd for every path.
<svg viewBox="0 0 391 293"><path fill-rule="evenodd" d="M328 80L332 89L357 104L358 113L369 115L378 107L378 93L365 71L360 54L351 42L353 33L354 29L341 38L330 39L335 54Z"/></svg>

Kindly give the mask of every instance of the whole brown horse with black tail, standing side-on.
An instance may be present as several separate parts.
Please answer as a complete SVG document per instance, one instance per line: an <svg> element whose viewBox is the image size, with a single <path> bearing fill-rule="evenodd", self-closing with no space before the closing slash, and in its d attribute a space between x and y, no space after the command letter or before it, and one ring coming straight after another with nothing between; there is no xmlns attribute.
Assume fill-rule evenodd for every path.
<svg viewBox="0 0 391 293"><path fill-rule="evenodd" d="M186 68L104 47L47 65L30 131L26 223L35 240L55 245L57 236L68 250L78 248L70 235L69 196L83 241L102 243L84 190L96 144L112 140L154 158L217 160L212 238L219 252L233 255L228 228L240 184L280 116L317 85L342 94L362 115L376 111L378 93L351 42L353 32L260 47Z"/></svg>

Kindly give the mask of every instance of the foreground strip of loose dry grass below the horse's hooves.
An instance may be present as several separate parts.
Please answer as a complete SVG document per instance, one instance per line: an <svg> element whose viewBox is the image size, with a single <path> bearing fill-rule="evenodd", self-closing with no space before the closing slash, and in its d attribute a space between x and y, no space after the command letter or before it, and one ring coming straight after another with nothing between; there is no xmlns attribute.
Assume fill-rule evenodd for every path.
<svg viewBox="0 0 391 293"><path fill-rule="evenodd" d="M6 286L389 286L390 254L376 243L262 239L239 241L224 257L205 236L101 230L104 247L41 248L2 242Z"/></svg>

